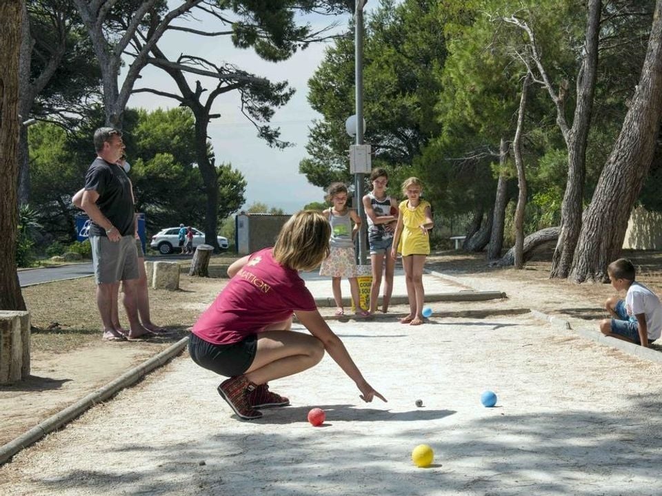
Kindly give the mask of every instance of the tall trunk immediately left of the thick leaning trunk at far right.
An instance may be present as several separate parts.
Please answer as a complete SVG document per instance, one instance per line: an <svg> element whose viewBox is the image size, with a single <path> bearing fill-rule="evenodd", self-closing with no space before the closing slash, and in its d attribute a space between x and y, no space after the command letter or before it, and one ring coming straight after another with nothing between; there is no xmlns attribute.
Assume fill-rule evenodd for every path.
<svg viewBox="0 0 662 496"><path fill-rule="evenodd" d="M601 0L590 0L586 21L585 53L577 76L577 104L572 129L565 136L568 147L568 182L561 205L561 234L556 242L550 278L567 278L581 231L586 176L586 141L591 124L598 65ZM563 128L562 128L563 129Z"/></svg>

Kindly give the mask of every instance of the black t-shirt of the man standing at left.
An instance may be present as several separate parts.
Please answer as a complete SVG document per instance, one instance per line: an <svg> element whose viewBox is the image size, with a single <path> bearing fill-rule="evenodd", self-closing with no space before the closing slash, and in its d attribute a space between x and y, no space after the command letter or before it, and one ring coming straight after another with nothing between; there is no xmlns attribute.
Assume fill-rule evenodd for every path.
<svg viewBox="0 0 662 496"><path fill-rule="evenodd" d="M97 157L85 176L85 189L99 193L97 207L117 227L119 234L134 234L131 183L124 169ZM106 236L106 229L92 222L90 236Z"/></svg>

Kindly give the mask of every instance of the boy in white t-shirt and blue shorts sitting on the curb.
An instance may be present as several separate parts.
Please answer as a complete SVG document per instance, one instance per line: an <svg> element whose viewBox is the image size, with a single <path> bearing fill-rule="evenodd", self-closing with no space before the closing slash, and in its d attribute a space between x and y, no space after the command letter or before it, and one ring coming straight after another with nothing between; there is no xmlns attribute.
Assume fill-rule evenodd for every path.
<svg viewBox="0 0 662 496"><path fill-rule="evenodd" d="M649 347L662 334L662 304L653 291L634 280L635 269L627 258L619 258L607 267L609 280L616 291L627 291L625 300L612 296L605 309L612 318L600 321L606 336Z"/></svg>

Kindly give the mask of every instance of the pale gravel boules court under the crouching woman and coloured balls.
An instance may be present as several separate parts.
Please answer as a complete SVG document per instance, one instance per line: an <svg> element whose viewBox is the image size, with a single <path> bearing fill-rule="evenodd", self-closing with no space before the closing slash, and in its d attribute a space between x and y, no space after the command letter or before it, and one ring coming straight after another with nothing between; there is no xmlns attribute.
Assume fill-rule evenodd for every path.
<svg viewBox="0 0 662 496"><path fill-rule="evenodd" d="M292 406L239 422L219 380L182 355L16 455L0 493L662 492L659 364L527 315L331 325L388 404L363 404L325 357L272 383ZM480 404L485 389L499 396L493 409ZM327 413L319 428L305 418L314 406ZM421 443L434 448L430 468L410 461Z"/></svg>

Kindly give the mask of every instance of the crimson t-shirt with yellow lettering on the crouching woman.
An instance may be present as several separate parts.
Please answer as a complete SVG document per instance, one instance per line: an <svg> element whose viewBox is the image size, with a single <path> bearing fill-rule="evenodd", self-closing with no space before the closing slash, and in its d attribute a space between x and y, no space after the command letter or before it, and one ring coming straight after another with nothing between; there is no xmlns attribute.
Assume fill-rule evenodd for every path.
<svg viewBox="0 0 662 496"><path fill-rule="evenodd" d="M287 320L293 311L313 311L315 300L299 273L283 267L265 248L250 256L192 333L213 344L232 344L264 327Z"/></svg>

